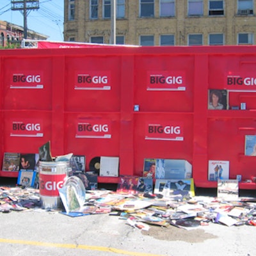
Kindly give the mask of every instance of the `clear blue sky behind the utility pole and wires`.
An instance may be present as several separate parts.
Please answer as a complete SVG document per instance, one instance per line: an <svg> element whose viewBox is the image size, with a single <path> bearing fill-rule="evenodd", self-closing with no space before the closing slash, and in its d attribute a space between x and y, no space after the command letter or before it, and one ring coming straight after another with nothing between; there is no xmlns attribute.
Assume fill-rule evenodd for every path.
<svg viewBox="0 0 256 256"><path fill-rule="evenodd" d="M22 11L12 11L11 0L0 0L0 20L24 26ZM49 41L63 41L64 0L39 0L39 9L30 10L28 29L49 36Z"/></svg>

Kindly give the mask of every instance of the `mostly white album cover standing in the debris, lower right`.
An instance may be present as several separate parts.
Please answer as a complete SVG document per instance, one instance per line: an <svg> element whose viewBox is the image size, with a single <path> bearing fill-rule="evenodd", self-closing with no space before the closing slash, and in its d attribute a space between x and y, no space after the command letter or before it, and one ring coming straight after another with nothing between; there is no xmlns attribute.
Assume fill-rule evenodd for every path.
<svg viewBox="0 0 256 256"><path fill-rule="evenodd" d="M238 180L218 180L218 198L223 200L238 200L239 197L239 183Z"/></svg>

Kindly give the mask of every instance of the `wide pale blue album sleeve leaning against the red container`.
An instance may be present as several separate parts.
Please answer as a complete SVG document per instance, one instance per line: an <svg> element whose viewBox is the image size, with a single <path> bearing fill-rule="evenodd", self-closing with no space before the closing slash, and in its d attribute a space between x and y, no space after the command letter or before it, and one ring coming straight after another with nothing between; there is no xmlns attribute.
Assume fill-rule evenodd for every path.
<svg viewBox="0 0 256 256"><path fill-rule="evenodd" d="M184 159L156 159L156 179L191 179L192 165Z"/></svg>

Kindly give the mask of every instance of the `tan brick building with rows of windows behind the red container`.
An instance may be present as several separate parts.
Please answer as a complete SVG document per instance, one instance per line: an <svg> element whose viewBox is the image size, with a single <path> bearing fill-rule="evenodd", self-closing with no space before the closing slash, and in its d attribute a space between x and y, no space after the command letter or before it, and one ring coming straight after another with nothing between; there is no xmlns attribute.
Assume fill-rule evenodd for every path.
<svg viewBox="0 0 256 256"><path fill-rule="evenodd" d="M116 0L116 44L255 44L256 0ZM111 0L65 0L64 40L111 42Z"/></svg>

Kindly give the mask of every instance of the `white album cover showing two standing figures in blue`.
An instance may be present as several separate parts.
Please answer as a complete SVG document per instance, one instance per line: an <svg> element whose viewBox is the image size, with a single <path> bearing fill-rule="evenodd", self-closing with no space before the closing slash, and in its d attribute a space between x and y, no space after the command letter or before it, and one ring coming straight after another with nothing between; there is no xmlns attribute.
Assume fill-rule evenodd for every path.
<svg viewBox="0 0 256 256"><path fill-rule="evenodd" d="M209 160L208 180L229 179L229 161Z"/></svg>

